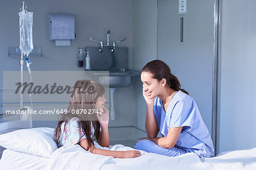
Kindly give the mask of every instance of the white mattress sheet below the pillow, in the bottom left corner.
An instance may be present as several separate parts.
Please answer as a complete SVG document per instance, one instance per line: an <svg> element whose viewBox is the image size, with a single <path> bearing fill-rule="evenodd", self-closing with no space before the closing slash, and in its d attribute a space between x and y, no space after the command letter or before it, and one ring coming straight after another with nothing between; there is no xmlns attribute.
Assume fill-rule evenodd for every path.
<svg viewBox="0 0 256 170"><path fill-rule="evenodd" d="M46 169L47 163L48 158L6 149L0 159L0 169L39 170Z"/></svg>

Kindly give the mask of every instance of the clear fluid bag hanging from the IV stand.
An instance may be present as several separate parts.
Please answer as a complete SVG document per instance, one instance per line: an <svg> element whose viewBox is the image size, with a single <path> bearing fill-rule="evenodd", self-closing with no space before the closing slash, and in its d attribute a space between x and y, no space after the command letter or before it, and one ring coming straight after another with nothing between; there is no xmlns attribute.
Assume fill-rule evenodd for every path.
<svg viewBox="0 0 256 170"><path fill-rule="evenodd" d="M34 49L32 39L33 12L19 12L19 49L26 56Z"/></svg>

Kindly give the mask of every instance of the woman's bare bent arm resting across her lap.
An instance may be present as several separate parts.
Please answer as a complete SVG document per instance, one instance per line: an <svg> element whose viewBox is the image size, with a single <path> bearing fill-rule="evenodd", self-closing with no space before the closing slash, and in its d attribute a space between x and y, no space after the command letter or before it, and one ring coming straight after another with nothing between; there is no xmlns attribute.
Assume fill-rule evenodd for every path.
<svg viewBox="0 0 256 170"><path fill-rule="evenodd" d="M179 138L182 127L170 128L166 137L162 138L149 138L150 141L155 142L163 148L173 148Z"/></svg>

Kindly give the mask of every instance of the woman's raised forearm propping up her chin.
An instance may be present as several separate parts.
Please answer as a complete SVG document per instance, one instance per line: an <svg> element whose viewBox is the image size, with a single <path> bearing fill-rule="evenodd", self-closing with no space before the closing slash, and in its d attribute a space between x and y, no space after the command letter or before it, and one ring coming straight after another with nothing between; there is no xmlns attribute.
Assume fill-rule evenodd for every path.
<svg viewBox="0 0 256 170"><path fill-rule="evenodd" d="M151 103L147 102L145 128L146 128L147 136L149 138L155 138L158 135L158 131L159 131L158 123L154 115L154 100L152 100Z"/></svg>

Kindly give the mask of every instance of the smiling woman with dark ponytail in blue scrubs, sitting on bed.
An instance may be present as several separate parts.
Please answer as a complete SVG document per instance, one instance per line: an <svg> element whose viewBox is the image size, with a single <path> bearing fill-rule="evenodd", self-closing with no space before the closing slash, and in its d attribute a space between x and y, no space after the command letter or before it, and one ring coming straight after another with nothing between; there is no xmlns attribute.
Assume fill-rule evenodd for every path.
<svg viewBox="0 0 256 170"><path fill-rule="evenodd" d="M167 156L194 152L200 158L214 156L212 139L195 100L180 88L170 68L158 59L142 69L143 96L146 100L147 138L134 146ZM160 131L162 137L156 137Z"/></svg>

